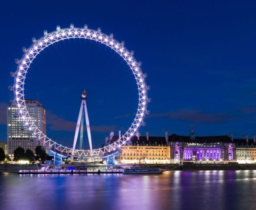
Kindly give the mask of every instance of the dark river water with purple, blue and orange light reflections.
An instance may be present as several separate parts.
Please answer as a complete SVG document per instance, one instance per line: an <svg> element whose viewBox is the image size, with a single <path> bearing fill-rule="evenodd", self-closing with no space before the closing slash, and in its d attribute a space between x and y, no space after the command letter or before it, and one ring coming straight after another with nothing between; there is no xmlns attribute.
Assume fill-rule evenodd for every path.
<svg viewBox="0 0 256 210"><path fill-rule="evenodd" d="M0 173L0 209L250 210L256 171L161 175Z"/></svg>

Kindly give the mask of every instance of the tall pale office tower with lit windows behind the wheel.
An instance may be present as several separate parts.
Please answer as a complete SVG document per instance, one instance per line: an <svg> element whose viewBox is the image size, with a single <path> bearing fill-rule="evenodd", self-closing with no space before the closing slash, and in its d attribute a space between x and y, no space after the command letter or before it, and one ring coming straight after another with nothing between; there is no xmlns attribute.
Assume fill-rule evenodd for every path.
<svg viewBox="0 0 256 210"><path fill-rule="evenodd" d="M46 110L37 100L26 100L26 107L35 125L46 134ZM17 147L30 149L35 153L37 145L42 145L34 135L24 127L24 121L17 115L18 108L10 103L7 107L7 149L12 155Z"/></svg>

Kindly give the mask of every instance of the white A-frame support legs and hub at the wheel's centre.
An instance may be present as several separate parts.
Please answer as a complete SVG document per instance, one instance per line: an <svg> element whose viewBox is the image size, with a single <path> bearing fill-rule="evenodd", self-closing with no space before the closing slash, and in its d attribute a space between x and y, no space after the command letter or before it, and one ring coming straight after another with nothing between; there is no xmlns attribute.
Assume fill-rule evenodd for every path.
<svg viewBox="0 0 256 210"><path fill-rule="evenodd" d="M82 103L80 106L80 111L79 111L79 115L78 115L78 120L77 120L77 124L76 124L76 132L75 132L75 137L74 137L74 144L73 144L73 149L72 149L72 155L74 155L74 151L75 151L75 147L76 147L76 142L77 142L77 137L78 137L78 132L79 132L79 128L80 128L80 123L81 120L83 121L83 108L85 110L85 121L86 121L86 128L87 128L87 134L88 134L88 140L89 140L89 145L90 145L90 150L92 150L92 144L91 144L91 130L90 130L90 124L89 124L89 117L88 117L88 112L87 112L87 106L86 106L86 99L87 99L87 91L82 91ZM83 122L82 122L83 124ZM82 130L83 128L81 128L80 132L83 132ZM82 133L81 133L82 136ZM80 139L80 142L82 140ZM81 143L80 143L81 145Z"/></svg>

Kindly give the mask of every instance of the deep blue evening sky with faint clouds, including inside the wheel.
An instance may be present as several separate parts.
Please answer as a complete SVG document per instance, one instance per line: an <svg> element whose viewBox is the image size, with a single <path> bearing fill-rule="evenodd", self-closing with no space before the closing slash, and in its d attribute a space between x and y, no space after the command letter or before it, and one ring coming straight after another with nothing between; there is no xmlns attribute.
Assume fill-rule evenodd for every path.
<svg viewBox="0 0 256 210"><path fill-rule="evenodd" d="M15 58L31 37L74 23L102 28L126 41L142 61L152 86L145 135L195 134L235 138L256 132L255 1L4 1L0 3L0 141L6 141L8 85ZM99 43L69 40L52 45L33 62L26 97L47 110L47 132L72 145L80 92L89 91L93 145L114 130L130 126L137 87L127 65ZM87 143L85 143L85 146Z"/></svg>

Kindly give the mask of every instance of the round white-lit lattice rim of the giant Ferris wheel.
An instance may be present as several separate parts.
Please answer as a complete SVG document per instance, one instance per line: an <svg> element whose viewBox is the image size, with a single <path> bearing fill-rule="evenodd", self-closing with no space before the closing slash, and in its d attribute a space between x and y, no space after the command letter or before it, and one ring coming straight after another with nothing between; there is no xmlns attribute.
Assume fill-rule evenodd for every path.
<svg viewBox="0 0 256 210"><path fill-rule="evenodd" d="M45 33L45 32L44 32ZM89 28L75 28L74 26L71 28L63 28L60 29L57 26L57 30L45 33L43 37L38 40L33 38L33 44L24 52L21 60L18 62L17 70L15 72L14 78L14 102L18 108L18 114L24 121L24 126L33 133L33 135L43 143L46 147L53 147L58 149L60 152L72 153L72 148L65 147L56 141L52 141L46 134L43 134L41 130L35 125L34 121L31 119L30 114L26 108L26 100L24 98L24 84L26 74L30 67L30 64L36 58L36 56L44 50L44 48L52 45L58 41L64 41L65 39L70 38L84 38L90 39L94 41L98 41L107 47L110 47L112 50L117 52L124 61L129 65L132 73L135 75L135 80L137 82L137 87L139 91L139 104L137 108L137 114L135 115L135 119L132 122L132 125L128 128L121 138L119 138L114 143L107 145L105 147L99 149L75 149L74 157L93 157L93 156L101 156L106 152L113 151L117 148L120 148L121 145L126 144L130 141L132 136L136 134L139 130L140 126L143 123L143 119L145 117L145 113L147 110L148 104L148 93L147 93L147 85L145 82L145 78L143 72L141 70L141 63L138 63L134 58L132 52L130 52L126 47L124 47L123 42L119 42L113 38L113 36L106 35L101 32L101 30L92 30Z"/></svg>

